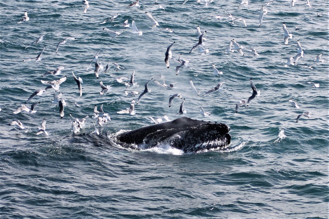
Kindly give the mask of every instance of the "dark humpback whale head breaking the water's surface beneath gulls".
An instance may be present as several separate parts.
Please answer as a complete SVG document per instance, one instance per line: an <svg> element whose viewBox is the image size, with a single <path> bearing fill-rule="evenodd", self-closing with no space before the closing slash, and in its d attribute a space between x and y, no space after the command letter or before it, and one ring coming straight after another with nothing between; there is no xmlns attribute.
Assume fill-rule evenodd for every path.
<svg viewBox="0 0 329 219"><path fill-rule="evenodd" d="M118 143L124 147L147 149L168 144L184 153L205 149L225 149L230 144L230 127L224 123L180 117L120 133Z"/></svg>

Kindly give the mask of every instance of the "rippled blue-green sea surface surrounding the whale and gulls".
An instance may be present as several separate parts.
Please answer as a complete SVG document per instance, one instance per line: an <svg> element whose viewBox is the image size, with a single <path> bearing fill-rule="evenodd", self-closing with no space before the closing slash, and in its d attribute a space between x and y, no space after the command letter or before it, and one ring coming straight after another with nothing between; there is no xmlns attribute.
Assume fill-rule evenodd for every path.
<svg viewBox="0 0 329 219"><path fill-rule="evenodd" d="M329 2L310 0L309 7L305 0L294 6L276 0L266 6L261 26L266 1L250 0L238 9L240 2L141 0L128 7L131 0L89 0L84 13L82 0L1 0L0 218L328 218ZM24 11L29 20L17 23ZM159 26L152 28L147 11ZM232 24L230 14L247 26L242 20ZM127 19L130 26L134 19L143 35L125 28ZM293 34L288 45L283 22ZM189 53L198 42L197 26L206 30L206 54L198 48ZM124 32L112 37L103 28ZM75 39L59 44L56 53L67 37ZM232 39L243 47L243 56L226 51ZM304 57L285 67L297 55L297 40ZM174 41L166 68L165 51ZM92 60L98 51L98 63L111 68L97 79ZM176 75L180 54L189 62ZM319 54L324 62L316 63ZM115 71L112 63L123 68ZM223 74L214 75L212 64ZM64 67L61 74L41 77L57 67ZM134 70L135 86L126 88L115 79L129 82ZM72 72L83 80L82 97ZM157 86L154 80L163 82L161 75L167 85L176 83L174 88ZM45 89L41 80L64 76L63 118L52 104L52 88L25 104L34 91ZM151 78L151 93L135 105L136 114L117 113L139 96L125 92L142 93ZM251 96L250 78L260 95L236 113L239 100ZM100 95L100 81L111 91ZM225 82L221 89L203 95L220 82ZM176 93L185 99L183 115L177 115L182 99L168 108L169 95ZM13 113L38 102L35 113ZM95 105L103 105L111 121L97 124ZM200 107L211 114L203 117ZM296 122L306 111L311 116ZM88 116L76 134L70 113ZM164 115L223 122L231 128L230 147L183 153L169 145L133 150L113 143L118 132L153 124L150 116L165 120ZM48 136L36 134L43 119ZM9 125L17 120L24 129Z"/></svg>

